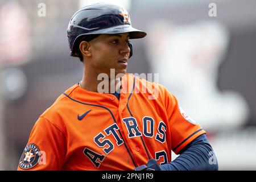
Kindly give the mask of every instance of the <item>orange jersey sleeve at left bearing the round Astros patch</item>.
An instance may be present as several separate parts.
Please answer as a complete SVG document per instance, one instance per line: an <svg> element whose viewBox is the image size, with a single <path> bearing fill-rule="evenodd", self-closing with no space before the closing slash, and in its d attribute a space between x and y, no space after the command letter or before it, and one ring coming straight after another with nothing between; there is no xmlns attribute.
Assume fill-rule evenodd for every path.
<svg viewBox="0 0 256 182"><path fill-rule="evenodd" d="M60 170L67 151L65 146L63 131L39 117L20 157L18 170Z"/></svg>

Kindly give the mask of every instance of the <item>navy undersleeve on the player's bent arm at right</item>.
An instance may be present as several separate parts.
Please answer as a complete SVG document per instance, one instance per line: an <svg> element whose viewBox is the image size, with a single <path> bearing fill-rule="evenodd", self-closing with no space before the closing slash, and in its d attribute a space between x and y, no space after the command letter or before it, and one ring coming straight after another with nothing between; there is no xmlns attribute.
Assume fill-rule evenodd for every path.
<svg viewBox="0 0 256 182"><path fill-rule="evenodd" d="M164 171L217 171L218 162L205 134L189 143L171 163L163 164Z"/></svg>

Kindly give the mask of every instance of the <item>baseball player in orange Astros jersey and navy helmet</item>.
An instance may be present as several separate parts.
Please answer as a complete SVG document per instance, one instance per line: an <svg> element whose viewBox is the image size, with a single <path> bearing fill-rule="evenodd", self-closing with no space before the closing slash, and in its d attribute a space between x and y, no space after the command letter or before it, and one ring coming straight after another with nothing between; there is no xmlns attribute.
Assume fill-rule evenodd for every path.
<svg viewBox="0 0 256 182"><path fill-rule="evenodd" d="M73 15L68 41L83 64L82 80L40 115L18 170L218 169L205 131L176 97L126 73L130 39L144 36L121 6L96 3ZM104 86L100 74L109 77ZM173 161L171 151L180 154Z"/></svg>

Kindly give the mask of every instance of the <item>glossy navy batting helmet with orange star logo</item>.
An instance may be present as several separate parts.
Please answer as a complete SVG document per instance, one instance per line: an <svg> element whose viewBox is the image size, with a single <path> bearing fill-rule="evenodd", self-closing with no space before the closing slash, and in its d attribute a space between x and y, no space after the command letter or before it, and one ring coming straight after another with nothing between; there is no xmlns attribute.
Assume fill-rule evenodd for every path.
<svg viewBox="0 0 256 182"><path fill-rule="evenodd" d="M131 26L130 16L122 6L110 3L95 3L77 11L68 24L68 42L70 55L80 57L77 47L81 39L95 38L98 34L129 33L130 39L139 39L147 35L146 32ZM128 45L131 49L132 46Z"/></svg>

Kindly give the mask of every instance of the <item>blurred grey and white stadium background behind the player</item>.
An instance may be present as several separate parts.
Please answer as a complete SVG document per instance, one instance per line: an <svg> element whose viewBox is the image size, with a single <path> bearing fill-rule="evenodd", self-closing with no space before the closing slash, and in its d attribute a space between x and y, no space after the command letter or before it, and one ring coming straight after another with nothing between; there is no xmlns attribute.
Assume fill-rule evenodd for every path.
<svg viewBox="0 0 256 182"><path fill-rule="evenodd" d="M0 0L1 170L16 170L38 116L80 81L67 26L90 2L98 1ZM256 1L108 2L125 6L133 26L148 32L131 41L128 72L159 73L207 131L220 170L255 170Z"/></svg>

